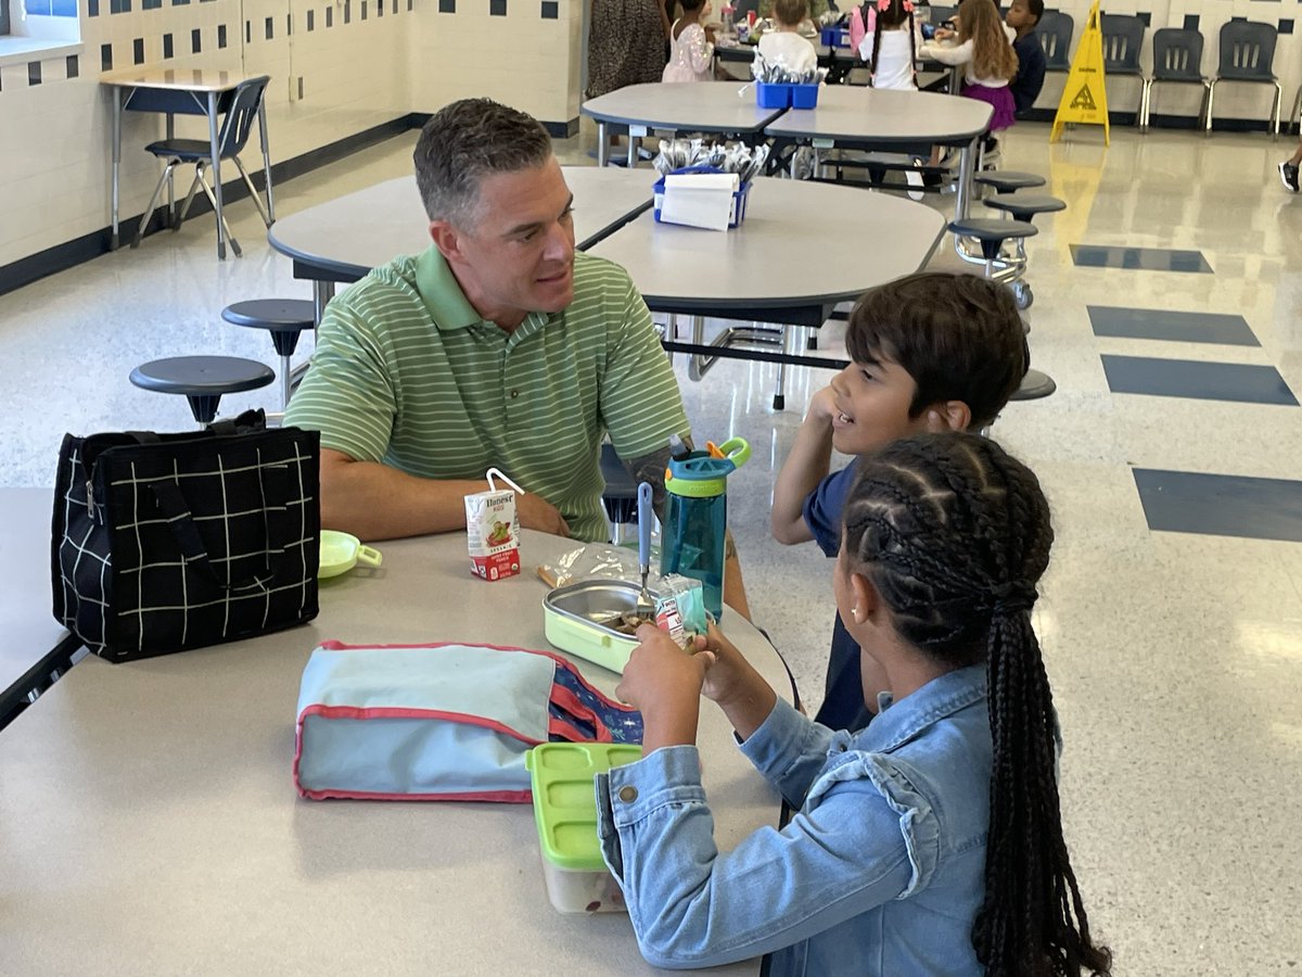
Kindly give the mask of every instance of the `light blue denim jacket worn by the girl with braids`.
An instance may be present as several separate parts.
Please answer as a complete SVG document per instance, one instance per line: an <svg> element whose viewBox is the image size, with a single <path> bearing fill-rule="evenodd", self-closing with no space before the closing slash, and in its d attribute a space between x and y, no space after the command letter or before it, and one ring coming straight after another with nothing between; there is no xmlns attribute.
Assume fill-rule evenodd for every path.
<svg viewBox="0 0 1302 977"><path fill-rule="evenodd" d="M741 749L797 810L720 852L695 746L596 780L605 862L642 955L693 968L772 954L773 974L979 974L991 735L984 666L857 732L779 700Z"/></svg>

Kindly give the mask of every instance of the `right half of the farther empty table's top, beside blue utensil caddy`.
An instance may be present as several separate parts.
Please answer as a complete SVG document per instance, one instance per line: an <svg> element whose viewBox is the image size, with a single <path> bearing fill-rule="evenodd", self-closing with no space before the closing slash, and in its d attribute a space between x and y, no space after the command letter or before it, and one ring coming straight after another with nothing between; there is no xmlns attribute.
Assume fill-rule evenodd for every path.
<svg viewBox="0 0 1302 977"><path fill-rule="evenodd" d="M793 108L764 134L857 145L967 142L986 132L992 112L984 102L931 91L824 85L816 108Z"/></svg>

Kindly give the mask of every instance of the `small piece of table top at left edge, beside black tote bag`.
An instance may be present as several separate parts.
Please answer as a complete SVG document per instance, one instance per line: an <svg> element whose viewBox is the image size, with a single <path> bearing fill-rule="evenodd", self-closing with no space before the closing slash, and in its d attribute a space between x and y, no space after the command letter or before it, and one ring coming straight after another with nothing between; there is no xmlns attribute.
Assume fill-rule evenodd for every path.
<svg viewBox="0 0 1302 977"><path fill-rule="evenodd" d="M51 610L52 499L51 488L0 488L0 623L4 627L0 689L9 688L66 633Z"/></svg>

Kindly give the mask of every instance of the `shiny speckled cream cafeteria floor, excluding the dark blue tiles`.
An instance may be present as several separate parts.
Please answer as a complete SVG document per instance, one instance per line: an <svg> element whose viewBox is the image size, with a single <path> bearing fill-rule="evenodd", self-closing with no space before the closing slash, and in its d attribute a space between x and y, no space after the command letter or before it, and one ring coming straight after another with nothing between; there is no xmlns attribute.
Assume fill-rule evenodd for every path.
<svg viewBox="0 0 1302 977"><path fill-rule="evenodd" d="M1100 358L1268 366L1302 391L1302 198L1275 173L1292 146L1117 129L1111 149L1087 129L1059 146L1047 137L1047 126L1018 126L1003 165L1047 175L1069 203L1039 221L1029 246L1032 356L1059 389L1009 406L993 434L1035 469L1056 511L1035 619L1065 729L1062 806L1091 920L1118 974L1302 973L1302 545L1151 531L1131 475L1297 479L1302 412L1115 393ZM284 184L280 214L409 172L413 143L414 134L397 138ZM586 163L591 145L585 128L559 150ZM186 427L184 401L128 383L138 362L221 352L275 365L264 335L217 313L310 290L267 248L250 205L232 214L241 261L219 263L211 219L197 219L0 296L0 485L49 485L65 430ZM828 246L872 261L871 240L871 228L845 227ZM1147 259L1078 266L1075 245L1198 250L1211 274L1150 270L1164 266ZM1100 336L1090 305L1242 315L1260 345ZM836 352L837 335L825 328L822 347ZM678 369L697 431L755 447L730 486L733 529L756 620L816 706L829 565L812 546L769 539L768 508L802 406L827 374L796 370L789 408L775 413L775 367L724 362L704 383ZM272 408L275 389L227 406Z"/></svg>

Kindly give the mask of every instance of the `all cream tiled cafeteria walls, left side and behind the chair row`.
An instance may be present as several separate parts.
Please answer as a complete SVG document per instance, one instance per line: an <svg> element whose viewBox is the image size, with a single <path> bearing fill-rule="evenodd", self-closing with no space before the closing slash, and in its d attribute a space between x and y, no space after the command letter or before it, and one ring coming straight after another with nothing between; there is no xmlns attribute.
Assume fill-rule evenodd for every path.
<svg viewBox="0 0 1302 977"><path fill-rule="evenodd" d="M0 3L21 9L17 0ZM509 102L557 133L572 130L578 119L582 0L78 0L78 7L79 55L0 65L0 268L107 227L111 104L98 77L109 65L270 74L272 162L466 95ZM1150 34L1160 26L1197 26L1207 39L1208 74L1221 23L1245 17L1277 26L1275 69L1285 113L1302 82L1295 7L1292 0L1105 3L1111 13L1147 14ZM1075 18L1074 48L1088 3L1064 0L1060 9ZM1146 70L1150 50L1146 36ZM1064 81L1051 74L1038 104L1056 107ZM1113 111L1133 109L1138 98L1137 79L1108 82ZM1269 86L1219 86L1216 104L1221 120L1264 120ZM1195 86L1154 90L1156 117L1191 117L1197 106ZM178 120L177 132L206 134L197 119ZM124 218L138 215L148 199L159 165L143 146L161 134L161 117L126 115Z"/></svg>

